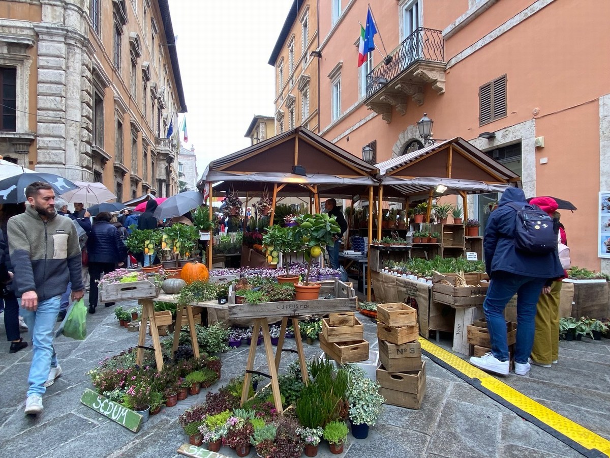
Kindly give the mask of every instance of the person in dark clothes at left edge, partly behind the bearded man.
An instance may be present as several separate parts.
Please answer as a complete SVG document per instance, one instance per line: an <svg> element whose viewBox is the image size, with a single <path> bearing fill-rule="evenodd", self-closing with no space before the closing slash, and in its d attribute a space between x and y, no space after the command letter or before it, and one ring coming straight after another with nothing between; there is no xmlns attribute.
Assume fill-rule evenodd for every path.
<svg viewBox="0 0 610 458"><path fill-rule="evenodd" d="M4 300L4 329L6 338L10 341L9 353L16 353L27 347L27 342L23 341L19 331L19 303L12 285L13 266L10 262L7 237L9 218L25 210L23 203L4 204L0 209L0 298Z"/></svg>

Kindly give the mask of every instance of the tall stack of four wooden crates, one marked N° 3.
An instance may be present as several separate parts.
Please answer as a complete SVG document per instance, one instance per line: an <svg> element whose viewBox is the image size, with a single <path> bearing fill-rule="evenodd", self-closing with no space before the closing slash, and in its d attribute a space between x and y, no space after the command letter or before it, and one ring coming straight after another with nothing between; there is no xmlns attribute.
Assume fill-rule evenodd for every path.
<svg viewBox="0 0 610 458"><path fill-rule="evenodd" d="M417 310L401 302L378 304L377 381L387 404L419 409L426 393L426 365L418 342Z"/></svg>

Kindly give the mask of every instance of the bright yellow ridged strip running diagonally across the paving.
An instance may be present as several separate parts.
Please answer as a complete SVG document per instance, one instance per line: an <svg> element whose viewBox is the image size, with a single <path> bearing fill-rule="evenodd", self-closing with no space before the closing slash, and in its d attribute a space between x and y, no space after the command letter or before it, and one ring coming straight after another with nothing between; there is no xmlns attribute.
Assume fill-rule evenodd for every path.
<svg viewBox="0 0 610 458"><path fill-rule="evenodd" d="M601 456L600 452L610 456L609 440L606 440L580 424L569 420L569 418L559 415L559 413L548 409L548 407L545 407L539 402L528 398L525 394L520 393L501 380L481 371L481 369L476 368L467 361L462 360L462 358L448 352L436 344L424 338L420 338L420 343L422 344L422 349L432 355L432 357L451 366L455 371L458 371L470 379L473 382L473 385L480 385L484 390L495 394L495 396L504 399L504 401L515 408L531 415L537 420L532 423L542 427L545 431L551 432L550 429L553 430L554 434L553 432L551 432L551 434L559 438L559 440L562 440L562 442L567 443L567 445L572 446L572 448L575 448L578 452L590 457ZM475 380L478 380L478 382ZM567 440L564 440L564 438ZM574 444L570 442L580 445L584 450L575 447Z"/></svg>

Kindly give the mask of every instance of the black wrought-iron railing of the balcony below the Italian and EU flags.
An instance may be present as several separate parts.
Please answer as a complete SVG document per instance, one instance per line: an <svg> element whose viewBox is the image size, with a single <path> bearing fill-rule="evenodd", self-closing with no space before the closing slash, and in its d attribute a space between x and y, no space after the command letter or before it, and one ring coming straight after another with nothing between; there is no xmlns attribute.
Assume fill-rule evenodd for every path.
<svg viewBox="0 0 610 458"><path fill-rule="evenodd" d="M367 97L378 92L418 60L445 62L442 31L418 27L367 75Z"/></svg>

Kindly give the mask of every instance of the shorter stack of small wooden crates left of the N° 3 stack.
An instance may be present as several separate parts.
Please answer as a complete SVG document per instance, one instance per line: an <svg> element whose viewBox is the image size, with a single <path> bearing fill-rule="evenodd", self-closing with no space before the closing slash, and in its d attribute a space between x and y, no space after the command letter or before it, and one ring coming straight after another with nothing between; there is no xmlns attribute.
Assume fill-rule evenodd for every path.
<svg viewBox="0 0 610 458"><path fill-rule="evenodd" d="M339 364L368 359L368 342L364 326L353 311L331 313L322 320L320 348Z"/></svg>

